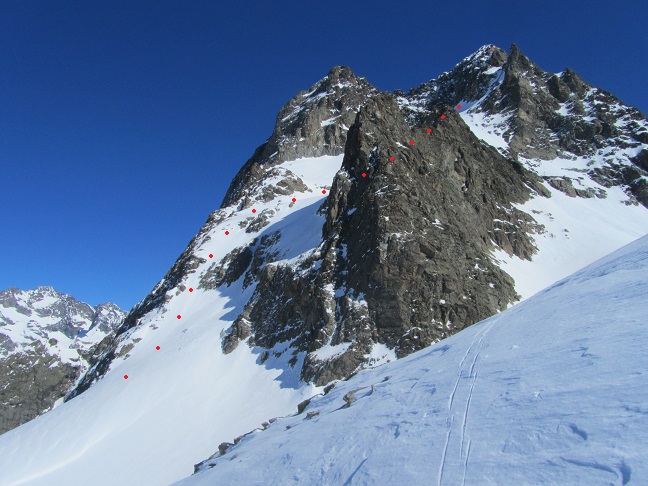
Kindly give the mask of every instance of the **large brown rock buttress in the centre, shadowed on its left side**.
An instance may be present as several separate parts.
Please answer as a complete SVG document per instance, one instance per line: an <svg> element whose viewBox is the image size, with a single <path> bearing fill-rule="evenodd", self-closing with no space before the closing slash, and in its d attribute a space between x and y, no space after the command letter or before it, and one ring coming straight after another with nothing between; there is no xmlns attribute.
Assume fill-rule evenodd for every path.
<svg viewBox="0 0 648 486"><path fill-rule="evenodd" d="M515 301L513 281L486 255L493 241L533 254L534 221L511 203L542 191L539 178L442 111L428 134L407 124L391 94L365 105L333 182L319 258L305 272L266 266L226 351L250 336L269 349L289 341L293 352L353 343L332 361L308 355L302 378L325 384L376 344L406 356Z"/></svg>

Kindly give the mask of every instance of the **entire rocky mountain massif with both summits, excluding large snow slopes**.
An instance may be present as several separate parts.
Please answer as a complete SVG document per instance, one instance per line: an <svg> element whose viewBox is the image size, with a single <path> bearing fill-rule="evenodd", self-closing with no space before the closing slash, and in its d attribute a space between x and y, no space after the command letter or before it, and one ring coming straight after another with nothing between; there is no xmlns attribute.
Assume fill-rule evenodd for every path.
<svg viewBox="0 0 648 486"><path fill-rule="evenodd" d="M134 345L130 330L167 312L194 273L202 291L245 295L225 353L243 343L260 364L284 363L317 384L406 356L518 299L491 252L532 259L543 228L516 205L550 189L605 198L618 186L626 204L645 206L646 153L644 115L569 69L543 71L516 46L484 46L408 93L334 68L280 111L221 208L68 398L101 378ZM314 192L291 161L341 154L308 223L321 236L288 256L277 201ZM253 205L264 209L237 216ZM210 239L234 220L249 239L209 261Z"/></svg>

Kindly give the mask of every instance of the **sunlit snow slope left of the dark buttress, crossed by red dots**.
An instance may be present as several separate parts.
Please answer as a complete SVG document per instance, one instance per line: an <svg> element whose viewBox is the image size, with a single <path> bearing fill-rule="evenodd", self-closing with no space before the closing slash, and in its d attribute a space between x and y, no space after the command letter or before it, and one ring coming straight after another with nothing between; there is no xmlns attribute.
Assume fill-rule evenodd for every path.
<svg viewBox="0 0 648 486"><path fill-rule="evenodd" d="M290 413L311 396L316 389L298 383L299 366L294 376L277 360L259 366L248 346L223 354L221 335L254 286L243 290L239 280L205 290L199 284L210 265L264 232L281 232L274 248L279 258L299 259L317 247L322 191L328 193L341 164L342 156L285 162L276 167L277 180L264 184L290 172L305 190L220 210L222 221L195 250L204 263L186 287L167 294L162 309L129 331L123 356L108 373L79 397L0 436L0 485L169 484L191 474L220 442ZM245 231L264 214L269 226Z"/></svg>

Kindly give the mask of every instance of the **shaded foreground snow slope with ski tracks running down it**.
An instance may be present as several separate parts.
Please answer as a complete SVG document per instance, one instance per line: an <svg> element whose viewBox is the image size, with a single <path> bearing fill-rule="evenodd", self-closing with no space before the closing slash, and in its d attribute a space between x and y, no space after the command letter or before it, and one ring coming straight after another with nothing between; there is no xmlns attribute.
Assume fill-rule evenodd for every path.
<svg viewBox="0 0 648 486"><path fill-rule="evenodd" d="M647 295L645 236L339 383L177 484L641 484Z"/></svg>

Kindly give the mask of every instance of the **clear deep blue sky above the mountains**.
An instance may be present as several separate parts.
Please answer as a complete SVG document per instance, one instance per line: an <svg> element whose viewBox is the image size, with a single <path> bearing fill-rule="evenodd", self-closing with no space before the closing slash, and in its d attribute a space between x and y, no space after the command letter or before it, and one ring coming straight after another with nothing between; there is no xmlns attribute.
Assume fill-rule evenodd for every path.
<svg viewBox="0 0 648 486"><path fill-rule="evenodd" d="M335 65L407 90L483 44L515 42L646 113L647 5L3 2L0 289L52 285L132 307L281 106Z"/></svg>

